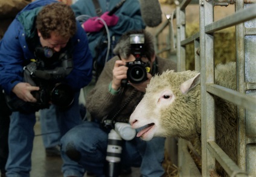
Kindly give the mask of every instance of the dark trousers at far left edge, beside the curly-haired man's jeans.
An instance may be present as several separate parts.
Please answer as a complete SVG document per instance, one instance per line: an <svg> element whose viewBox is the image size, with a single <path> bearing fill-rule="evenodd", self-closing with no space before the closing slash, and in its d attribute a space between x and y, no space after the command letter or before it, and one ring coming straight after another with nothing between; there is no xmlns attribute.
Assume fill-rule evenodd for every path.
<svg viewBox="0 0 256 177"><path fill-rule="evenodd" d="M8 131L11 111L7 107L2 88L0 87L0 170L5 173L5 164L8 157Z"/></svg>

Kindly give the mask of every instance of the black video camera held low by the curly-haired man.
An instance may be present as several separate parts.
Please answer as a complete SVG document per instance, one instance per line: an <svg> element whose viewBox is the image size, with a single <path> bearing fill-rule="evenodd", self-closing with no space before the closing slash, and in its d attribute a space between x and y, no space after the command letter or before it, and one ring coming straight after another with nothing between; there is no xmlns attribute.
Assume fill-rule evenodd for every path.
<svg viewBox="0 0 256 177"><path fill-rule="evenodd" d="M54 54L52 49L40 47L36 48L35 55L36 60L24 67L24 82L40 88L31 92L37 102L25 102L5 94L8 107L22 113L49 108L50 102L62 108L69 107L74 101L74 92L62 81L73 69L71 54L67 51Z"/></svg>

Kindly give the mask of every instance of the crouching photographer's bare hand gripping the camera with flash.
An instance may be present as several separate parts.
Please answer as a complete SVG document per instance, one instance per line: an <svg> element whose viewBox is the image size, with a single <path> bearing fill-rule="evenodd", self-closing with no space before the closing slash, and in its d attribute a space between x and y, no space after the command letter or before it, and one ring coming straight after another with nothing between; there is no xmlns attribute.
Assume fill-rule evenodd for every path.
<svg viewBox="0 0 256 177"><path fill-rule="evenodd" d="M118 90L118 88L121 87L121 81L122 79L126 79L126 73L128 70L128 67L125 66L126 62L117 60L115 61L115 66L113 69L113 80L112 80L112 88L114 90Z"/></svg>

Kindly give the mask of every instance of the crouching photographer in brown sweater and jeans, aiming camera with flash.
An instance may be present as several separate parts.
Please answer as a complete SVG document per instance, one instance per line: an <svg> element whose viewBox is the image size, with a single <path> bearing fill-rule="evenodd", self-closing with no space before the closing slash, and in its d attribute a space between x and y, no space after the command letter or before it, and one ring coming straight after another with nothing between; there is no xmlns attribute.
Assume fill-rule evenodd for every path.
<svg viewBox="0 0 256 177"><path fill-rule="evenodd" d="M82 177L85 172L118 176L117 169L129 173L130 167L140 167L141 176L164 175L165 138L125 140L129 132L124 132L122 137L120 132L113 131L120 122L129 122L152 76L167 69L176 70L176 64L156 57L153 37L145 30L129 31L121 36L114 52L117 56L106 63L86 99L93 119L72 128L61 139L65 177ZM116 163L111 163L111 158ZM115 168L116 165L121 168Z"/></svg>

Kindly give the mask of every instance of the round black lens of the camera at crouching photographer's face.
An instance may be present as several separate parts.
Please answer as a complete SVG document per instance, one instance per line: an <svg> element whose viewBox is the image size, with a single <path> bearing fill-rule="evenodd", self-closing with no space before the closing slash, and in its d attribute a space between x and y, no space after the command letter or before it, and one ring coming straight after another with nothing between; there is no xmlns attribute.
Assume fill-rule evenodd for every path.
<svg viewBox="0 0 256 177"><path fill-rule="evenodd" d="M147 71L142 64L133 64L127 70L127 79L133 84L138 84L147 79Z"/></svg>

